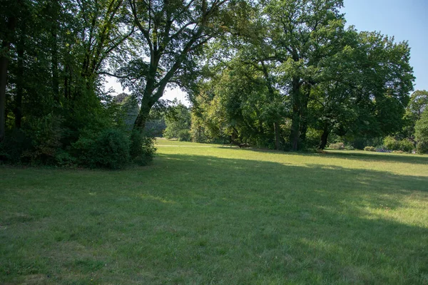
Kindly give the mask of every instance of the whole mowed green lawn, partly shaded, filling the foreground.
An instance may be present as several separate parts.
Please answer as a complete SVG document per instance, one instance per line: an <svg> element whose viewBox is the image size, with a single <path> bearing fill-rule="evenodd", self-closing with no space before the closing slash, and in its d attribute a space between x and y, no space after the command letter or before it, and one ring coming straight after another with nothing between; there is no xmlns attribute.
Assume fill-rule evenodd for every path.
<svg viewBox="0 0 428 285"><path fill-rule="evenodd" d="M158 145L0 167L0 284L428 284L428 156Z"/></svg>

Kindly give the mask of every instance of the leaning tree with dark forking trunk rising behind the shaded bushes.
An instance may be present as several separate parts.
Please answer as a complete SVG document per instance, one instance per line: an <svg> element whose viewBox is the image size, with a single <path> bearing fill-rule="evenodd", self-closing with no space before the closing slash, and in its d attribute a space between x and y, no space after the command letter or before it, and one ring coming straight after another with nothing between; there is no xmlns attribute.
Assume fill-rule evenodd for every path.
<svg viewBox="0 0 428 285"><path fill-rule="evenodd" d="M134 132L142 133L153 105L168 84L185 86L195 58L210 38L222 31L223 6L228 0L128 0L138 28L143 56L121 68L121 78L133 84L141 98ZM138 135L137 135L138 137Z"/></svg>

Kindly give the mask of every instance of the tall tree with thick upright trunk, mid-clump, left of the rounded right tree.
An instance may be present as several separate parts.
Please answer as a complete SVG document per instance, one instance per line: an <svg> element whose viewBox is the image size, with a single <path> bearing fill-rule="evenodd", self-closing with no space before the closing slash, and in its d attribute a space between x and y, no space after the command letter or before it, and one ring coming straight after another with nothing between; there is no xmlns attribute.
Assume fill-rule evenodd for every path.
<svg viewBox="0 0 428 285"><path fill-rule="evenodd" d="M317 84L319 63L336 52L337 29L344 25L342 0L266 1L270 42L284 72L283 89L289 95L290 145L297 150L305 141L307 105Z"/></svg>

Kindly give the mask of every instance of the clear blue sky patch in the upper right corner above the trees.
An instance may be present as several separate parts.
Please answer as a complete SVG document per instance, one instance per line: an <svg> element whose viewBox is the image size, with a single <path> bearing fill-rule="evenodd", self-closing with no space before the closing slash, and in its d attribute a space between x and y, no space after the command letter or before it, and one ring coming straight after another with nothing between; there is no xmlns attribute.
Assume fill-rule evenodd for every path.
<svg viewBox="0 0 428 285"><path fill-rule="evenodd" d="M409 41L414 90L428 90L428 0L345 0L345 19L358 31Z"/></svg>

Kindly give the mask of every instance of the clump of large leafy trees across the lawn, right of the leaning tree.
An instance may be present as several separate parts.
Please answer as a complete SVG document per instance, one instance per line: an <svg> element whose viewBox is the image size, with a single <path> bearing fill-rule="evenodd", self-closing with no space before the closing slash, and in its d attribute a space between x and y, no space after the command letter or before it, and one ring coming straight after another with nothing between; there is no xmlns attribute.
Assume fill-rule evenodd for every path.
<svg viewBox="0 0 428 285"><path fill-rule="evenodd" d="M342 1L263 1L247 8L245 19L237 16L233 36L211 43L223 56L213 55L194 102L205 124L198 128L291 150L323 149L330 137L363 148L401 132L414 79L409 46L345 28L341 7Z"/></svg>

